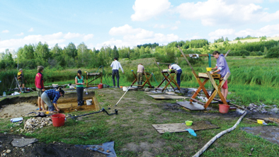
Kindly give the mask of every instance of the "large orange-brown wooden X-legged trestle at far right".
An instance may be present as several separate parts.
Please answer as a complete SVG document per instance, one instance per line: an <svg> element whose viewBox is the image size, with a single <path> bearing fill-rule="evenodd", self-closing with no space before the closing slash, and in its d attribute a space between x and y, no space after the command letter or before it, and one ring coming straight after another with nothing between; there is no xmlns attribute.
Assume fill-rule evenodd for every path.
<svg viewBox="0 0 279 157"><path fill-rule="evenodd" d="M200 87L198 88L197 91L195 91L193 96L190 98L190 102L195 101L195 102L201 103L200 101L196 100L195 97L198 95L198 93L200 93L201 90L203 90L203 92L205 93L205 95L208 99L205 104L203 103L205 109L207 108L208 105L210 105L210 103L212 102L213 98L215 98L217 93L220 96L222 103L227 104L227 101L224 99L224 96L221 93L221 88L224 85L224 82L227 81L227 79L229 78L229 75L230 75L230 73L227 73L223 79L220 74L210 74L210 72L208 72L208 71L207 71L207 73L199 73L198 76L196 76L194 74L195 79L200 84ZM204 79L203 83L200 81L200 79ZM210 80L210 82L212 83L212 86L215 88L215 91L213 91L213 93L211 93L211 95L209 95L205 89L205 83L207 83L208 80ZM217 86L215 80L220 81L218 86Z"/></svg>

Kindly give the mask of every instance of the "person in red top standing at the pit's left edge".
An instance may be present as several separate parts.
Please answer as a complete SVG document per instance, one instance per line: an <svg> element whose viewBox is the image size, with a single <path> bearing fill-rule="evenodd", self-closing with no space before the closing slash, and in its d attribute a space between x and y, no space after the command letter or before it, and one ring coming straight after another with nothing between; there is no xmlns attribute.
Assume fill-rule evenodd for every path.
<svg viewBox="0 0 279 157"><path fill-rule="evenodd" d="M38 66L38 73L35 76L35 86L36 91L38 92L38 106L39 110L45 112L45 104L41 103L41 95L45 91L44 80L42 79L42 71L44 70L44 66ZM41 107L42 106L42 107Z"/></svg>

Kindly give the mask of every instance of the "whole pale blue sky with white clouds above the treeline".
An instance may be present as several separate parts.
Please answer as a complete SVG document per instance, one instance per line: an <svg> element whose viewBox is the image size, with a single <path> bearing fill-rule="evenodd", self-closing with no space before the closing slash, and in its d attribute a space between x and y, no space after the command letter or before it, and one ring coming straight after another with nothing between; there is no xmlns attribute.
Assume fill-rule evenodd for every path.
<svg viewBox="0 0 279 157"><path fill-rule="evenodd" d="M0 0L0 52L279 36L279 0Z"/></svg>

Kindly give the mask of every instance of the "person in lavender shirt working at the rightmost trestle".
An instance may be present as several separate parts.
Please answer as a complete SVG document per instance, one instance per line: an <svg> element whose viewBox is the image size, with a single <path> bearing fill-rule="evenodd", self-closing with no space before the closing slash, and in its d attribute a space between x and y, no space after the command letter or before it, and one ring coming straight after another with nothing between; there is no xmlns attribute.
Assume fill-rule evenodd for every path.
<svg viewBox="0 0 279 157"><path fill-rule="evenodd" d="M212 53L215 59L217 59L217 64L212 70L217 69L216 71L213 71L214 73L218 73L221 75L222 78L227 74L229 71L229 66L227 65L226 59L224 59L224 54L220 54L220 52L213 52ZM227 100L227 94L229 93L229 88L227 86L227 80L224 82L224 85L221 88L221 93L224 96L224 99Z"/></svg>

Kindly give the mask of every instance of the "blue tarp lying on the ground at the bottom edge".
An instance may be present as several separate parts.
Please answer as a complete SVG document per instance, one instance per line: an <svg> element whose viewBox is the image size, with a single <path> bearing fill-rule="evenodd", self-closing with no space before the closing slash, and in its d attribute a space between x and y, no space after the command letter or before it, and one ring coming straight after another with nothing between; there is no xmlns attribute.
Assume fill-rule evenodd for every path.
<svg viewBox="0 0 279 157"><path fill-rule="evenodd" d="M103 143L102 145L75 145L82 149L91 149L93 151L98 151L106 154L108 157L116 157L116 153L114 151L114 141L108 141Z"/></svg>

